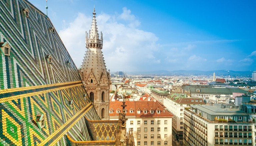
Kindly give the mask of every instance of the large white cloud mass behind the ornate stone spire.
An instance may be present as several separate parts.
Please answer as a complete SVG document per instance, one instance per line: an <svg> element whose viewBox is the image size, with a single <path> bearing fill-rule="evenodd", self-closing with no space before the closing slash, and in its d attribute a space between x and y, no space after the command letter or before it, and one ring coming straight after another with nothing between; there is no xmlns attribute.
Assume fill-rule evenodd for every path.
<svg viewBox="0 0 256 146"><path fill-rule="evenodd" d="M136 28L139 23L131 11L123 8L120 15L99 14L96 15L98 31L103 33L103 55L107 69L119 71L129 69L140 71L145 64L156 64L161 58L156 56L160 48L157 44L158 37L151 32L145 32ZM129 21L128 24L117 20ZM65 44L76 66L83 61L85 47L85 32L90 30L92 16L78 13L75 20L69 24L63 21L63 30L59 35ZM135 23L134 23L135 22Z"/></svg>

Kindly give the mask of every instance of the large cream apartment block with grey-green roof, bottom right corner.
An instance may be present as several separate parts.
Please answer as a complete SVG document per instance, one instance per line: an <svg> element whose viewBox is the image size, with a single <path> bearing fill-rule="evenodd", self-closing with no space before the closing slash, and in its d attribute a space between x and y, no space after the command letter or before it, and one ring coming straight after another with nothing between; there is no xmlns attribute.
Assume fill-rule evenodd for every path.
<svg viewBox="0 0 256 146"><path fill-rule="evenodd" d="M255 145L255 122L230 105L191 105L183 124L185 146Z"/></svg>

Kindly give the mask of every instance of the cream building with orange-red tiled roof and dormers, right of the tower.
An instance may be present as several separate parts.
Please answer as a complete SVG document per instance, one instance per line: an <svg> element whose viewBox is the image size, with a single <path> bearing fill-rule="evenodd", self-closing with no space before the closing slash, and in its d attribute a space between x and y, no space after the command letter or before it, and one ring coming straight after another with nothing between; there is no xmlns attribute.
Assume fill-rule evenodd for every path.
<svg viewBox="0 0 256 146"><path fill-rule="evenodd" d="M114 95L115 96L115 95ZM115 97L114 99L117 99ZM117 120L123 99L110 101L110 119ZM136 146L171 146L173 115L155 101L126 101L126 128L133 131Z"/></svg>

